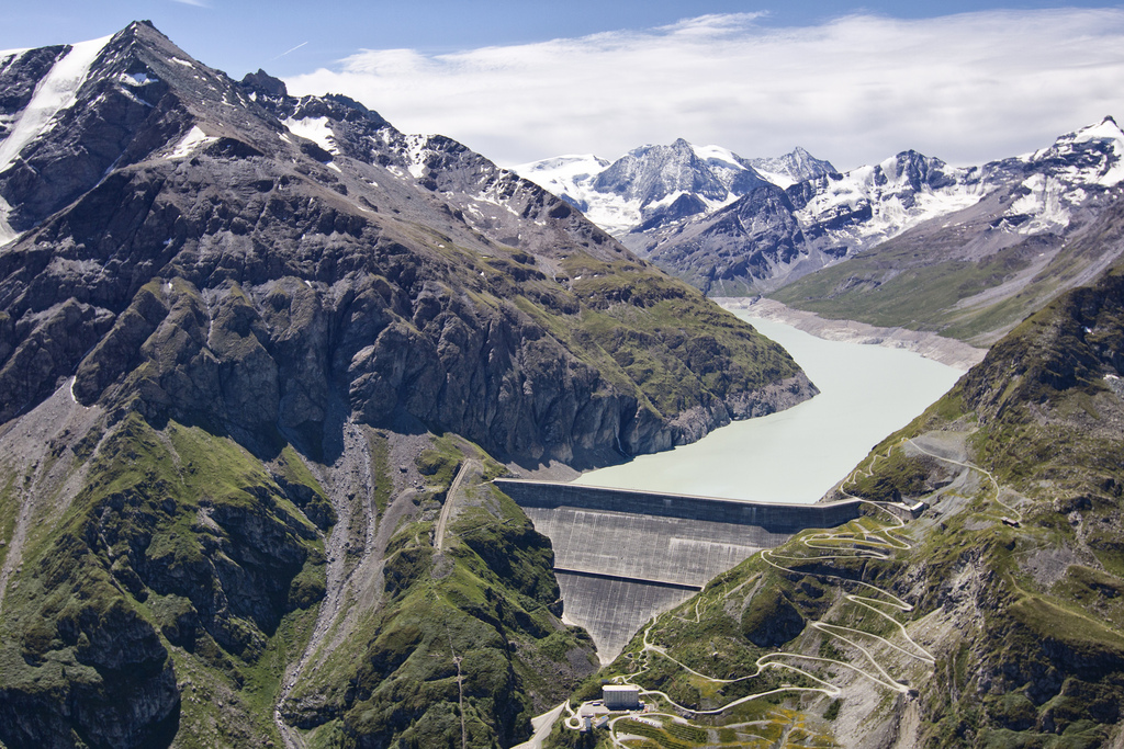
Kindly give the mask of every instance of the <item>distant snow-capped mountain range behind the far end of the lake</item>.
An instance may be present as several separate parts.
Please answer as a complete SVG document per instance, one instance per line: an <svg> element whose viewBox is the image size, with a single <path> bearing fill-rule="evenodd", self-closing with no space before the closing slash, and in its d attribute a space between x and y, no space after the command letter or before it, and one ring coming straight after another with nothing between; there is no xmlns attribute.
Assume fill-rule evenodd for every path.
<svg viewBox="0 0 1124 749"><path fill-rule="evenodd" d="M679 140L613 164L562 157L516 170L709 295L763 293L987 345L1116 257L1118 245L1090 254L1080 243L1111 221L1100 217L1118 198L1122 157L1124 133L1109 117L970 167L907 150L839 173L797 149L769 171ZM918 309L918 285L940 287L939 299Z"/></svg>

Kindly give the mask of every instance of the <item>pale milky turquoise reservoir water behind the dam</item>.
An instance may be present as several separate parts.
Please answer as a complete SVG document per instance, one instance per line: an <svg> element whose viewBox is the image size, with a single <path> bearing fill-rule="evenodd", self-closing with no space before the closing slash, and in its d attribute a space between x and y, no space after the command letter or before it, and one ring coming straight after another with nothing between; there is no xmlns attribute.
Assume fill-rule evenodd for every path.
<svg viewBox="0 0 1124 749"><path fill-rule="evenodd" d="M592 471L574 483L815 502L962 374L903 349L824 340L772 320L738 317L788 349L819 395L780 413L735 421L694 445Z"/></svg>

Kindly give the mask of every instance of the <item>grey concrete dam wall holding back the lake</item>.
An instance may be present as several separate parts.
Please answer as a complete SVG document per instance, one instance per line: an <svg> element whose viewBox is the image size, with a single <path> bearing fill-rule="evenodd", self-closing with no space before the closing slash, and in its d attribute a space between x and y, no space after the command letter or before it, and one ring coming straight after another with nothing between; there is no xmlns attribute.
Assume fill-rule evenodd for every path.
<svg viewBox="0 0 1124 749"><path fill-rule="evenodd" d="M551 539L564 620L590 633L602 663L716 575L801 530L854 520L861 504L737 502L509 478L496 485Z"/></svg>

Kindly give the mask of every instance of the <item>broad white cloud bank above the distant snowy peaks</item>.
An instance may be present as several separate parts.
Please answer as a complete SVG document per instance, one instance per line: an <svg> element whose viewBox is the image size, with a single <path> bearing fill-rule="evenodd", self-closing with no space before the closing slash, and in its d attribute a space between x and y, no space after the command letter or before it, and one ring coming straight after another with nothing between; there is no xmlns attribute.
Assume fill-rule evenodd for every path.
<svg viewBox="0 0 1124 749"><path fill-rule="evenodd" d="M849 16L769 28L704 16L643 31L426 55L364 51L289 79L504 164L615 158L685 137L743 156L796 145L847 168L916 148L967 164L1124 117L1124 10Z"/></svg>

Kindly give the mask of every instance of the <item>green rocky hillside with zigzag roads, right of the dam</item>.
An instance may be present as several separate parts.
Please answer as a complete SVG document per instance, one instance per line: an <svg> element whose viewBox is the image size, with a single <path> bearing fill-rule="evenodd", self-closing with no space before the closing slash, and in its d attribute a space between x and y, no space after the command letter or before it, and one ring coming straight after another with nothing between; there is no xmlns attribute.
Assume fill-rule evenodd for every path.
<svg viewBox="0 0 1124 749"><path fill-rule="evenodd" d="M876 446L827 497L865 518L720 575L574 695L636 684L652 720L551 746L1121 746L1122 322L1117 263Z"/></svg>

